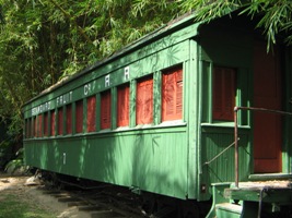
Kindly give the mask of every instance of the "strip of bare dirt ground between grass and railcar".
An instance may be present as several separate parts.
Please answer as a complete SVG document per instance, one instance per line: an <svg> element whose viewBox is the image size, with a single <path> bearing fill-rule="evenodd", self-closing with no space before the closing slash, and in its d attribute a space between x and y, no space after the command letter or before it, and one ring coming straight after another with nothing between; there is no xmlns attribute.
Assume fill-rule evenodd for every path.
<svg viewBox="0 0 292 218"><path fill-rule="evenodd" d="M0 173L0 201L2 194L12 193L31 205L48 210L57 218L92 217L90 213L79 211L77 206L68 206L67 203L59 202L58 198L45 193L42 187L40 182L32 175L11 177Z"/></svg>

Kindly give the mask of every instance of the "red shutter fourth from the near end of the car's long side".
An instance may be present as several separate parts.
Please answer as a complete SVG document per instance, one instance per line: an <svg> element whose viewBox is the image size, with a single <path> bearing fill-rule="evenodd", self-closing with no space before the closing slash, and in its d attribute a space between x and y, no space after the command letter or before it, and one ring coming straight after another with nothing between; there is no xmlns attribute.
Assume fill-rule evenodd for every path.
<svg viewBox="0 0 292 218"><path fill-rule="evenodd" d="M110 129L110 90L101 95L101 129Z"/></svg>

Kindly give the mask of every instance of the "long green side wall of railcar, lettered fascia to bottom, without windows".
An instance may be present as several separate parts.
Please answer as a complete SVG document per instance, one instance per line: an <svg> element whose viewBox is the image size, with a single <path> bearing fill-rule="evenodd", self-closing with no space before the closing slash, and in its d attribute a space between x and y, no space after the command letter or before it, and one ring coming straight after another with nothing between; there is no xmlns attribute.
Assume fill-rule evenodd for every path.
<svg viewBox="0 0 292 218"><path fill-rule="evenodd" d="M189 59L195 60L192 51L190 52L189 38L196 36L196 28L197 24L176 29L171 35L165 35L137 51L122 53L118 59L101 64L92 72L66 82L54 92L40 95L28 102L24 107L26 119L32 117L33 108L38 110L39 105L44 107L48 101L54 110L59 106L72 104L74 114L74 102L84 99L84 131L75 134L77 121L73 117L72 135L24 140L25 161L55 172L133 186L178 198L195 198L196 154L189 153L188 125L185 122L189 116L188 108L183 107L182 121L161 122L161 80L163 70L179 64L184 73L183 83L195 83L189 75L188 64ZM126 70L129 71L129 76L125 76ZM136 85L140 77L150 74L153 74L154 81L153 124L137 126ZM107 76L110 81L108 84ZM125 83L130 84L130 124L117 129L117 86ZM184 85L184 102L188 102L189 92L186 87ZM105 89L112 92L113 122L112 130L101 131L101 92ZM96 95L96 132L86 133L85 98L92 95ZM191 147L194 152L195 145ZM189 161L191 168L188 167Z"/></svg>

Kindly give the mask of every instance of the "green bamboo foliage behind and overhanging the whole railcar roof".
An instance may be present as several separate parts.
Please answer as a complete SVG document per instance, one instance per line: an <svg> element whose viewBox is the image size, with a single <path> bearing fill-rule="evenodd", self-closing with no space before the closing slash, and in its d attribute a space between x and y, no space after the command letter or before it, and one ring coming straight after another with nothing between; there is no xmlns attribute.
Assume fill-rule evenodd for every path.
<svg viewBox="0 0 292 218"><path fill-rule="evenodd" d="M22 105L63 76L108 57L192 11L211 21L240 10L260 14L268 45L287 33L290 0L0 0L0 118L22 129Z"/></svg>

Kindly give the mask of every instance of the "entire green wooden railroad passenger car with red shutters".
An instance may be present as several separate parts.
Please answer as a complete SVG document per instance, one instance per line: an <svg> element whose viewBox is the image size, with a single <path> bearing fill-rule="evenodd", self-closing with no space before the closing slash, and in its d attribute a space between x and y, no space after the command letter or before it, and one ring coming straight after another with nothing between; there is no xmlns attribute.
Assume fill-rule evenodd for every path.
<svg viewBox="0 0 292 218"><path fill-rule="evenodd" d="M215 205L233 199L241 207L227 213L253 215L266 203L234 187L234 107L291 110L292 49L267 53L266 45L243 15L171 22L26 102L25 161L172 198L213 198L209 217L224 217ZM240 185L262 192L252 181L289 181L291 118L248 109L237 124ZM268 201L285 208L291 191L283 195Z"/></svg>

